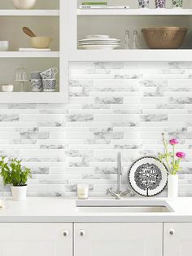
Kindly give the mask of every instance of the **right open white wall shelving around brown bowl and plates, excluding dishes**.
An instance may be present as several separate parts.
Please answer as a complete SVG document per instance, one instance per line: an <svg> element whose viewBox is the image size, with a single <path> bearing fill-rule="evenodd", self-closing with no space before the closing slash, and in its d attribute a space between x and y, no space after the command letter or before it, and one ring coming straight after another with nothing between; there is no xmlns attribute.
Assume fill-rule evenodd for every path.
<svg viewBox="0 0 192 256"><path fill-rule="evenodd" d="M112 0L111 0L112 1ZM123 1L122 1L123 2ZM155 2L155 1L154 1ZM154 3L149 9L138 9L137 1L130 0L130 9L79 9L81 1L70 2L69 23L69 60L70 61L191 61L192 60L192 2L185 2L184 9L172 9L168 0L167 9L155 9ZM115 1L112 1L114 4ZM116 3L118 4L118 2ZM127 5L127 1L122 3ZM142 38L141 29L153 26L181 26L188 28L181 49L151 50ZM129 29L139 33L140 49L125 50L124 34ZM78 49L78 40L89 34L108 34L122 42L116 50L82 50Z"/></svg>

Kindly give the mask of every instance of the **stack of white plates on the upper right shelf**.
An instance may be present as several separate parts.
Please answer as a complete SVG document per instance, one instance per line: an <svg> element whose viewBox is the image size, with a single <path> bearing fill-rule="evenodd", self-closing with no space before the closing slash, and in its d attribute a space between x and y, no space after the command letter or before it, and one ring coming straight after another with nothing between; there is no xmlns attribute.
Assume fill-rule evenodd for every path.
<svg viewBox="0 0 192 256"><path fill-rule="evenodd" d="M113 50L120 47L120 40L107 35L89 35L79 40L79 48L85 50Z"/></svg>

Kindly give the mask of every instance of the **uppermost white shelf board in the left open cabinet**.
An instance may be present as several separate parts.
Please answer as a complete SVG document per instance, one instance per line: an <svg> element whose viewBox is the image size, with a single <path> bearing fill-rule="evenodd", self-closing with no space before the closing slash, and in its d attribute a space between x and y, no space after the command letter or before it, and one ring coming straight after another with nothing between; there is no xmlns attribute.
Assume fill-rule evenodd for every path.
<svg viewBox="0 0 192 256"><path fill-rule="evenodd" d="M0 10L0 16L59 16L59 10Z"/></svg>

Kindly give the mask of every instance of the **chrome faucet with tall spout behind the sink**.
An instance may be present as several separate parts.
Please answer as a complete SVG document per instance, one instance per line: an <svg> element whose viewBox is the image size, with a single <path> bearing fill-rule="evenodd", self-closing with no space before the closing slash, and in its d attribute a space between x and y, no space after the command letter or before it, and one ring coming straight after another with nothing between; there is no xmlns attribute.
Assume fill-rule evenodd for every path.
<svg viewBox="0 0 192 256"><path fill-rule="evenodd" d="M107 194L110 194L111 196L114 196L116 199L120 199L123 196L127 196L128 194L130 196L134 196L133 192L131 191L131 188L128 188L125 192L122 192L122 157L121 152L118 152L117 154L117 191L114 191L114 189L110 188L107 190Z"/></svg>

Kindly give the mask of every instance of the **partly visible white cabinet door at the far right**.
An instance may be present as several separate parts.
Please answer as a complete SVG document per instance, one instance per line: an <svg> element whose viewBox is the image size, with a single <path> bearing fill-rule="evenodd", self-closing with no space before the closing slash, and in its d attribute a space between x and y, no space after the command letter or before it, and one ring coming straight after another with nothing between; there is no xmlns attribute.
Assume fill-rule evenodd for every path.
<svg viewBox="0 0 192 256"><path fill-rule="evenodd" d="M192 255L192 223L164 223L164 256Z"/></svg>

